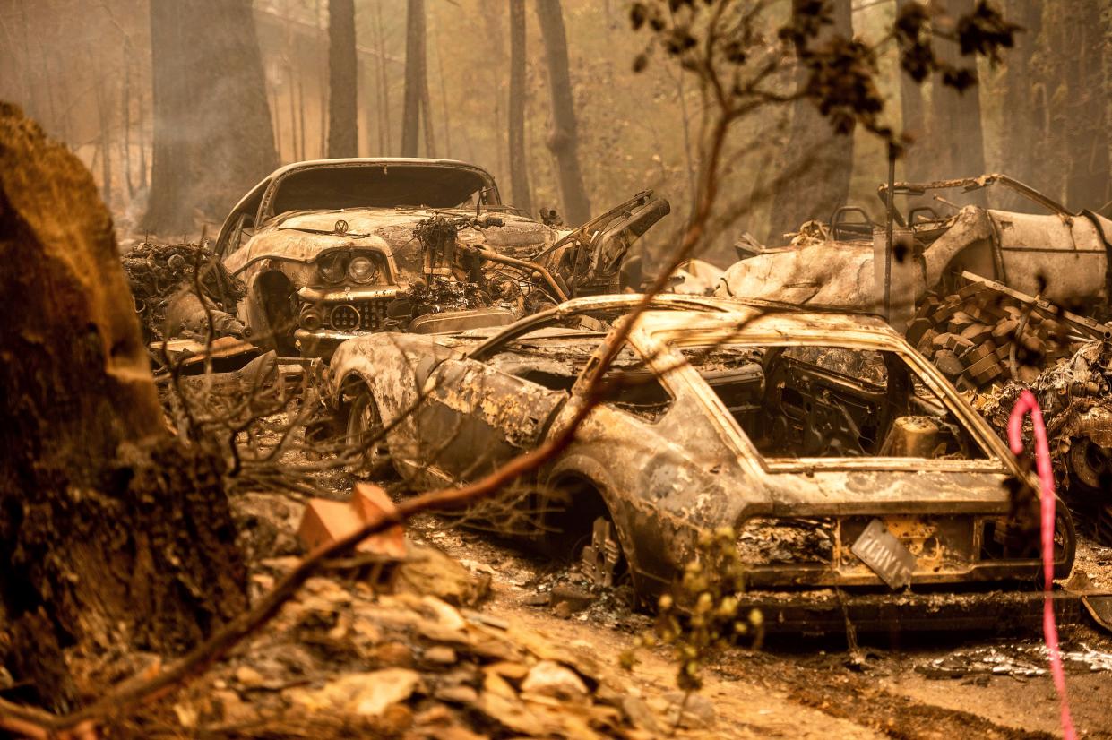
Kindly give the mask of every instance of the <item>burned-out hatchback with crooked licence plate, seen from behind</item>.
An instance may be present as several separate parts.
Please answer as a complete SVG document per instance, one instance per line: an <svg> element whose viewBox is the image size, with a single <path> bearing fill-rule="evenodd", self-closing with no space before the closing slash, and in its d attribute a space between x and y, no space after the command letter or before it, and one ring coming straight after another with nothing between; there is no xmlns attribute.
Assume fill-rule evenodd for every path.
<svg viewBox="0 0 1112 740"><path fill-rule="evenodd" d="M349 341L330 383L350 441L377 440L365 462L418 489L488 473L565 428L638 300L572 300L470 336ZM1006 487L1026 473L880 319L664 296L606 372L614 390L505 510L513 521L489 520L497 529L582 550L596 580L625 571L647 598L698 557L702 532L732 527L746 598L774 628L880 623L890 609L904 628L936 628L947 603L973 626L1041 606L1036 494ZM1055 543L1065 576L1063 507ZM955 596L975 590L1006 598L987 614Z"/></svg>

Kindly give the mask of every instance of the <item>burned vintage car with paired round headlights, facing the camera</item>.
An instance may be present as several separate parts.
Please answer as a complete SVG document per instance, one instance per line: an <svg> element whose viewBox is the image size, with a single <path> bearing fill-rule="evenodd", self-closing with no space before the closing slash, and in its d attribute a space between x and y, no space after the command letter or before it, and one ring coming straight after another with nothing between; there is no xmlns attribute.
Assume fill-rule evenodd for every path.
<svg viewBox="0 0 1112 740"><path fill-rule="evenodd" d="M216 251L245 281L241 319L281 354L364 333L504 326L622 288L629 246L668 212L651 191L574 230L502 202L481 168L336 159L276 170L232 209Z"/></svg>

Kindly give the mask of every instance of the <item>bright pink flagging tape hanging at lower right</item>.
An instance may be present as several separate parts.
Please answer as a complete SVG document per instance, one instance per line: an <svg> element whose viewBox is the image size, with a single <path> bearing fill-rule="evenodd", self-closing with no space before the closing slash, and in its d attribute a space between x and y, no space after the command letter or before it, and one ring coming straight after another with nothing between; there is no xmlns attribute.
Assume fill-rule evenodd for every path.
<svg viewBox="0 0 1112 740"><path fill-rule="evenodd" d="M1054 677L1054 689L1062 708L1062 733L1065 740L1076 740L1078 732L1073 729L1073 718L1070 716L1070 700L1065 696L1065 670L1062 668L1062 651L1058 646L1058 626L1054 623L1054 606L1051 603L1051 589L1054 588L1054 473L1050 468L1050 446L1046 443L1046 424L1043 422L1042 409L1034 393L1024 390L1020 393L1012 416L1007 419L1007 443L1012 454L1023 454L1023 417L1031 412L1031 423L1035 429L1035 470L1039 472L1039 483L1042 488L1042 553L1043 553L1043 589L1046 599L1043 601L1043 637L1046 650L1050 652L1050 671Z"/></svg>

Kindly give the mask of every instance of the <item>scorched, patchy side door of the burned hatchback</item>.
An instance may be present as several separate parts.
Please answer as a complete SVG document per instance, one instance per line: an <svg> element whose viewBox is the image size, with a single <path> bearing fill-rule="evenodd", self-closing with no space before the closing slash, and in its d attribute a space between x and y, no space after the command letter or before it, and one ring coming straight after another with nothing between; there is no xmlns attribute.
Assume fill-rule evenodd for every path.
<svg viewBox="0 0 1112 740"><path fill-rule="evenodd" d="M443 483L475 480L535 448L568 398L461 358L437 366L415 418L425 473Z"/></svg>

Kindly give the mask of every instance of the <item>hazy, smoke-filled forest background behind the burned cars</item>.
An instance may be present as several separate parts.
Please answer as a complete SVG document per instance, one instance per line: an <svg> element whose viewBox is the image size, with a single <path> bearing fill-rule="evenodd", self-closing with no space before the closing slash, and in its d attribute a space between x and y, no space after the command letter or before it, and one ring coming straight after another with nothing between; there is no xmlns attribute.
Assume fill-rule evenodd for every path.
<svg viewBox="0 0 1112 740"><path fill-rule="evenodd" d="M770 28L790 4L772 7ZM906 4L838 0L838 30L876 40ZM962 14L974 4L950 0L946 9ZM1071 210L1106 212L1106 6L1007 0L1001 9L1024 30L999 63L979 62L980 82L964 92L915 83L891 46L882 49L884 114L912 142L897 178L1003 172ZM688 212L705 103L659 49L635 71L646 39L631 29L627 3L355 0L332 10L327 0L8 0L0 99L85 161L123 240L197 234L203 224L211 233L274 166L330 149L473 162L495 176L505 200L534 213L555 209L569 224L645 188L672 201L673 221ZM517 37L515 12L524 16ZM353 28L330 29L337 23ZM330 50L329 39L353 38L354 56ZM957 57L954 43L939 49ZM407 73L416 84L407 86ZM775 84L787 92L797 81L785 70ZM354 106L337 106L334 94ZM767 188L801 152L813 166L753 201L717 237L714 261L732 261L744 232L781 242L842 204L882 219L883 143L861 130L835 136L806 106L770 108L732 132L736 154L723 190L736 202ZM330 110L346 136L329 131ZM1006 193L992 198L1024 208ZM646 248L661 248L667 233L654 230Z"/></svg>

